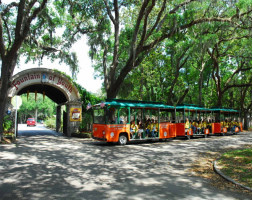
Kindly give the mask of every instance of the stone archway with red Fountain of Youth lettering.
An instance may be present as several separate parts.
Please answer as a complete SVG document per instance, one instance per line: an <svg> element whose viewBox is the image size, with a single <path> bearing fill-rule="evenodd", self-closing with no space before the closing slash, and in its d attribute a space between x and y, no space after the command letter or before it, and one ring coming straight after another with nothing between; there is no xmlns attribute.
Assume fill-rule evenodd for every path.
<svg viewBox="0 0 253 200"><path fill-rule="evenodd" d="M59 131L61 124L61 106L66 105L64 134L71 136L77 131L82 116L82 102L77 88L66 75L46 68L32 68L14 75L8 97L11 99L27 92L45 94L58 104L56 131Z"/></svg>

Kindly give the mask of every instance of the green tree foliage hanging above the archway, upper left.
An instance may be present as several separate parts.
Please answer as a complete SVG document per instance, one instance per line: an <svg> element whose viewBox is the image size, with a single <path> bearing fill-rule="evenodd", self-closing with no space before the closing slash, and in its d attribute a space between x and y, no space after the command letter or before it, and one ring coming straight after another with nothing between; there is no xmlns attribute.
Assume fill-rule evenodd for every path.
<svg viewBox="0 0 253 200"><path fill-rule="evenodd" d="M20 4L22 3L20 2ZM80 6L77 6L78 3L73 1L74 4L75 8L80 11ZM27 19L29 15L32 15L29 12L33 12L35 7L41 5L42 1L34 1L31 4L24 3L23 18ZM32 6L31 10L29 6ZM18 4L1 3L0 10L3 21L3 41L6 49L11 49L11 46L16 42L15 37L17 36L15 30L18 23ZM35 16L36 20L30 25L27 24L30 27L26 28L30 30L27 36L24 36L25 39L20 46L18 57L25 57L26 62L39 61L40 63L44 57L50 58L51 61L64 62L69 66L75 77L78 72L78 61L76 54L71 52L71 47L80 38L80 34L77 34L76 31L77 27L75 27L79 21L74 18L73 12L69 10L74 11L72 6L65 1L47 1L45 7ZM87 12L87 9L85 11ZM79 16L79 19L86 21L86 17L88 17L87 14ZM24 25L22 24L22 26Z"/></svg>

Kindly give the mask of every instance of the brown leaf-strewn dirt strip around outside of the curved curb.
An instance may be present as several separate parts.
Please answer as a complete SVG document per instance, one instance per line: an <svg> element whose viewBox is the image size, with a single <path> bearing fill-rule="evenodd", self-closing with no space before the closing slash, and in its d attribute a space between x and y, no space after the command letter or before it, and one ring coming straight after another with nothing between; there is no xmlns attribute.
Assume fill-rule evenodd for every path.
<svg viewBox="0 0 253 200"><path fill-rule="evenodd" d="M191 169L189 170L196 176L201 176L210 181L210 185L221 189L221 190L231 190L237 192L243 192L251 194L252 192L245 190L227 180L222 178L220 175L214 172L213 170L213 161L219 158L223 153L232 150L244 149L244 148L252 148L252 145L245 145L241 148L227 148L223 149L219 152L204 152L199 154L198 158L192 164Z"/></svg>

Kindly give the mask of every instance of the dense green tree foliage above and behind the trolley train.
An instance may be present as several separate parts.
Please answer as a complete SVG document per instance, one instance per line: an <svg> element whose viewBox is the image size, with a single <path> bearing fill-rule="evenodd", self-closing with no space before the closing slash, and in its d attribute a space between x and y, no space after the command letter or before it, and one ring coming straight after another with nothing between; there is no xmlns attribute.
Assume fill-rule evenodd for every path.
<svg viewBox="0 0 253 200"><path fill-rule="evenodd" d="M251 4L251 1L243 0L237 3L192 2L181 7L179 12L168 14L164 18L164 31L167 32L172 27L205 17L233 17L235 21L210 20L163 40L128 73L118 98L163 101L173 105L185 102L207 107L222 104L239 110L243 105L245 109L251 109ZM121 19L125 26L120 35L122 51L131 43L131 24L135 23L138 9L136 6L122 12L125 16ZM243 12L237 19L236 13ZM154 35L156 37L159 37L158 32ZM123 53L127 57L128 51L121 55ZM97 64L95 69L98 70L98 65L101 70L101 64ZM103 74L102 70L100 72Z"/></svg>

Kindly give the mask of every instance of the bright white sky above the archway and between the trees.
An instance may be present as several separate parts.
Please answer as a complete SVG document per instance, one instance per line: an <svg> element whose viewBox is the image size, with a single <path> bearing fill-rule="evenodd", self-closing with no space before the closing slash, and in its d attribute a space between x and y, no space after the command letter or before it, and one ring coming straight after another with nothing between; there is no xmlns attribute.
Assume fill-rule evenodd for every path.
<svg viewBox="0 0 253 200"><path fill-rule="evenodd" d="M94 79L94 69L91 66L91 59L89 58L89 47L87 45L87 39L83 36L78 42L76 42L72 51L76 52L77 58L79 60L79 73L77 74L76 82L83 86L87 91L92 93L99 93L100 88L102 87L103 80L99 78ZM67 75L71 76L69 67L58 62L52 63L50 59L43 59L42 65L39 66L38 62L25 63L25 58L21 58L21 62L16 66L14 70L14 75L22 70L31 69L31 68L49 68L49 69L58 69L59 71L65 72Z"/></svg>

